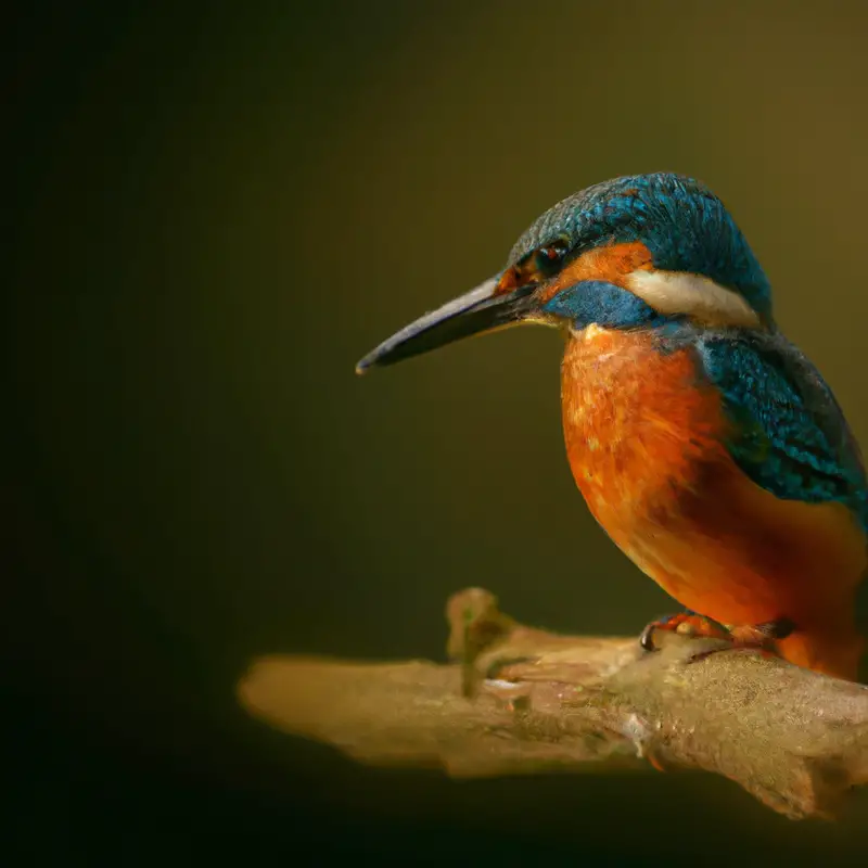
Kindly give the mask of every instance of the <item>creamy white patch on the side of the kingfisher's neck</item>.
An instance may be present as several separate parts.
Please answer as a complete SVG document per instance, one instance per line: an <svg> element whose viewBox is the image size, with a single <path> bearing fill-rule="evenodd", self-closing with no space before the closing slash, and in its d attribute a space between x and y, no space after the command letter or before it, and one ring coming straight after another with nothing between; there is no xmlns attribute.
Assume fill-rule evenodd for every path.
<svg viewBox="0 0 868 868"><path fill-rule="evenodd" d="M758 329L760 317L738 293L687 271L634 271L627 289L659 314L682 314L707 326Z"/></svg>

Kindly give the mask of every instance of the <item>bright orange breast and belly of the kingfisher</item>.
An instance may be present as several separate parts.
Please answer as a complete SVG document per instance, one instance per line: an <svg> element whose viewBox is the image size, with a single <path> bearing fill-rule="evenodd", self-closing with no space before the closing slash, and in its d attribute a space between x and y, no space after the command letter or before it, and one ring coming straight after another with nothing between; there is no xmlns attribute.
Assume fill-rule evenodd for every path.
<svg viewBox="0 0 868 868"><path fill-rule="evenodd" d="M576 483L644 573L725 624L791 618L784 656L855 677L861 529L840 503L781 500L741 472L719 394L686 350L591 326L567 344L562 404Z"/></svg>

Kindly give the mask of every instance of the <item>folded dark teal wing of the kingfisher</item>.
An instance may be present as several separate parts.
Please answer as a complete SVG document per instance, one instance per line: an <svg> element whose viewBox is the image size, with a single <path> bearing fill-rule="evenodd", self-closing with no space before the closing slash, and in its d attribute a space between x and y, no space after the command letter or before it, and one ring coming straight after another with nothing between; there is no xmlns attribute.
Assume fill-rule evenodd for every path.
<svg viewBox="0 0 868 868"><path fill-rule="evenodd" d="M787 500L840 501L868 528L858 445L831 390L779 332L712 333L697 345L733 422L727 444L757 485Z"/></svg>

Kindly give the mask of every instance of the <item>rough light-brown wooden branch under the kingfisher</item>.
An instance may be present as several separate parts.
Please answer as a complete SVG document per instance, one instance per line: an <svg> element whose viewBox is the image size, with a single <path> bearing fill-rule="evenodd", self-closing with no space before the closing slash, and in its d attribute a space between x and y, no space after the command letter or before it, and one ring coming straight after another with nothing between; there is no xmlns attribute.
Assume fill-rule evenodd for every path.
<svg viewBox="0 0 868 868"><path fill-rule="evenodd" d="M868 783L868 688L718 640L664 634L647 653L532 629L477 588L447 616L457 664L263 658L240 700L359 762L456 777L649 761L724 775L792 818L831 817Z"/></svg>

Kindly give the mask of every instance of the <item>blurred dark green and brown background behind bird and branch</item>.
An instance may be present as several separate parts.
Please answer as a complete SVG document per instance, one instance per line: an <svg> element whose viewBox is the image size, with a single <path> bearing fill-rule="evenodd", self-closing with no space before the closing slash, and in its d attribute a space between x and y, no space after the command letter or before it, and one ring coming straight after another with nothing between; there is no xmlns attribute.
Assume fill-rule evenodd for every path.
<svg viewBox="0 0 868 868"><path fill-rule="evenodd" d="M261 653L439 659L467 585L563 630L671 610L574 489L553 333L353 374L589 183L709 182L868 438L867 8L179 5L3 28L9 864L864 856L864 801L365 770L233 689Z"/></svg>

